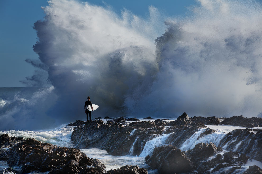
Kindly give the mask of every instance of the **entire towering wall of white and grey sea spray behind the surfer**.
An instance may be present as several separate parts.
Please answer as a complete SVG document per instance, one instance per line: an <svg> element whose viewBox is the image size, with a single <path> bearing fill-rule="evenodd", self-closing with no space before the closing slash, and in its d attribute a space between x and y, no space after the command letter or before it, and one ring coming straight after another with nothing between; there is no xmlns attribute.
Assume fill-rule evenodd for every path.
<svg viewBox="0 0 262 174"><path fill-rule="evenodd" d="M166 32L160 36L164 18L154 7L143 20L128 11L120 17L88 3L49 1L43 8L45 19L34 25L34 51L40 61L26 60L41 71L27 79L31 86L48 80L47 86L54 89L39 103L34 100L41 111L1 98L2 120L15 128L21 128L18 117L27 120L24 124L43 127L50 123L38 118L52 118L52 124L84 120L88 95L100 105L97 117L173 117L185 111L192 116L258 115L261 5L200 4L191 7L193 14L185 19L166 20Z"/></svg>

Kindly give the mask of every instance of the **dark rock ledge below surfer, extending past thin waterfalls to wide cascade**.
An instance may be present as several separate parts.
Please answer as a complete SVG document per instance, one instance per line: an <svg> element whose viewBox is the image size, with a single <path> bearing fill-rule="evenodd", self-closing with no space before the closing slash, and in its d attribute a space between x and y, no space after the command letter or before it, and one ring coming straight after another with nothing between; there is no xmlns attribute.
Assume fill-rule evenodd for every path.
<svg viewBox="0 0 262 174"><path fill-rule="evenodd" d="M135 132L131 134L134 130ZM127 126L120 123L100 123L99 120L76 127L71 141L77 148L100 148L111 155L139 155L145 143L164 131L154 122L132 122ZM133 147L133 152L130 149Z"/></svg>

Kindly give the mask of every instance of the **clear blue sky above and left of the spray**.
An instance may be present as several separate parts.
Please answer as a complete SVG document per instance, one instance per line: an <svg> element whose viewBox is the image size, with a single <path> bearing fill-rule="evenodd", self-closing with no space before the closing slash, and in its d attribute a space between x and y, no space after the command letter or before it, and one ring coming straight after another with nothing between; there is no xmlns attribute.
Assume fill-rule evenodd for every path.
<svg viewBox="0 0 262 174"><path fill-rule="evenodd" d="M85 2L85 1L83 1ZM120 14L128 9L134 14L145 18L148 7L154 6L167 16L186 16L186 7L196 5L194 0L157 1L157 0L104 0L87 1L99 6L110 6ZM37 41L34 22L44 17L41 6L47 6L46 0L1 0L0 1L0 87L23 87L20 80L33 75L35 68L26 63L25 59L37 59L32 46Z"/></svg>

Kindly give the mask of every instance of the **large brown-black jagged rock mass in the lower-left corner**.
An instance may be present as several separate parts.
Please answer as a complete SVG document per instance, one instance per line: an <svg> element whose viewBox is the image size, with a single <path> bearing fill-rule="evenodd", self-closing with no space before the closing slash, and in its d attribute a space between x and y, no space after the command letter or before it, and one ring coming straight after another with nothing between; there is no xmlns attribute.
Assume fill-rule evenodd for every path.
<svg viewBox="0 0 262 174"><path fill-rule="evenodd" d="M10 137L6 137L6 140ZM12 138L11 138L12 139ZM83 167L105 166L97 159L90 159L79 149L57 147L49 143L41 143L34 138L21 140L7 153L7 163L10 166L22 166L21 173L47 172L49 173L78 173Z"/></svg>

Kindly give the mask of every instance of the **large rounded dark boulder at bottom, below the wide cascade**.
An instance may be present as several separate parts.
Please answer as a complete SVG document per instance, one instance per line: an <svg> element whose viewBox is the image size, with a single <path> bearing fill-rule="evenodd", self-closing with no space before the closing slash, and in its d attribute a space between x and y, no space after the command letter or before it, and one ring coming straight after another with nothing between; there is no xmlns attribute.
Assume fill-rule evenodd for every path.
<svg viewBox="0 0 262 174"><path fill-rule="evenodd" d="M152 156L146 156L146 163L160 173L183 173L192 169L184 152L172 145L156 147Z"/></svg>

